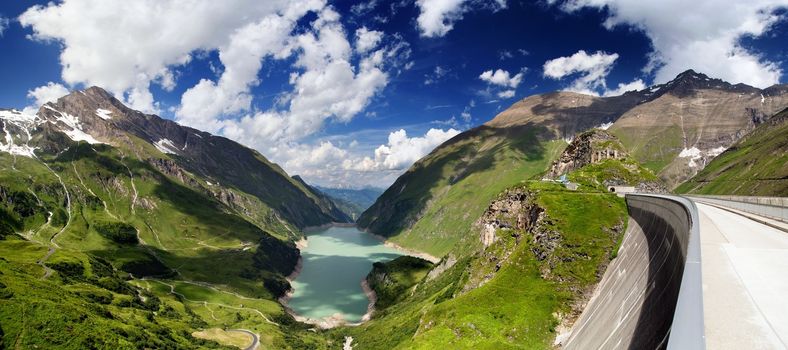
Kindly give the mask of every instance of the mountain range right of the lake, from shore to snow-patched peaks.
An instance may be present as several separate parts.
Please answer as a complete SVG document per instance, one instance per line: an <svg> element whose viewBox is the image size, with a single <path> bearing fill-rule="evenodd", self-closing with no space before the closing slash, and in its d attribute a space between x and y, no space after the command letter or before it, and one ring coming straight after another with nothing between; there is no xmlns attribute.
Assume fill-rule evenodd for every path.
<svg viewBox="0 0 788 350"><path fill-rule="evenodd" d="M786 106L788 85L758 89L692 70L620 96L530 96L416 162L358 224L442 255L494 196L540 176L579 132L608 130L673 189Z"/></svg>

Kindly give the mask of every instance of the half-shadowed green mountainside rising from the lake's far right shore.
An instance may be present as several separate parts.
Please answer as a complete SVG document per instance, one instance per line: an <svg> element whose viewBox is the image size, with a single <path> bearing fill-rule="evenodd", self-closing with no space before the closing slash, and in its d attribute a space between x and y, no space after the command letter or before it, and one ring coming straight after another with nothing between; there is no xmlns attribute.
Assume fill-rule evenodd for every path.
<svg viewBox="0 0 788 350"><path fill-rule="evenodd" d="M541 174L566 146L543 141L543 132L530 124L464 132L414 164L357 223L397 244L442 256L467 239L490 200Z"/></svg>

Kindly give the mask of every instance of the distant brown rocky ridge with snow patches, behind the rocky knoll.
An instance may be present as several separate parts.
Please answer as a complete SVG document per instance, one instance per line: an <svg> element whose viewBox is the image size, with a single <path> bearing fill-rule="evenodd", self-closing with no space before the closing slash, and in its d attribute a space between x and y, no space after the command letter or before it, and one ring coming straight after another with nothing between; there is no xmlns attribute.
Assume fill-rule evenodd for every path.
<svg viewBox="0 0 788 350"><path fill-rule="evenodd" d="M665 84L620 96L530 96L485 125L532 123L547 127L556 138L604 126L638 161L675 187L786 106L786 84L758 89L688 70Z"/></svg>

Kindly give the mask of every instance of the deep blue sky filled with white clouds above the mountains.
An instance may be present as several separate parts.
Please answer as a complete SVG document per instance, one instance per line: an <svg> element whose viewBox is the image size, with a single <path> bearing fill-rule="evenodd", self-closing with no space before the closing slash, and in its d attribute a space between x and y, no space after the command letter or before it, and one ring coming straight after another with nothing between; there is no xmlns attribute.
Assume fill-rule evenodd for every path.
<svg viewBox="0 0 788 350"><path fill-rule="evenodd" d="M99 85L307 181L387 186L529 95L689 68L766 87L788 64L786 0L133 3L3 2L0 106Z"/></svg>

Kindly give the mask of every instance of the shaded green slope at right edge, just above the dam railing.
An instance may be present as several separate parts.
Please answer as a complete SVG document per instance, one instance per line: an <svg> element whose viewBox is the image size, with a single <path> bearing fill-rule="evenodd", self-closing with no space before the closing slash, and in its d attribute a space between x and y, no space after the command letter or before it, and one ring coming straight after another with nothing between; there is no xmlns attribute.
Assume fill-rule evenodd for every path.
<svg viewBox="0 0 788 350"><path fill-rule="evenodd" d="M788 196L788 109L715 157L676 192Z"/></svg>

